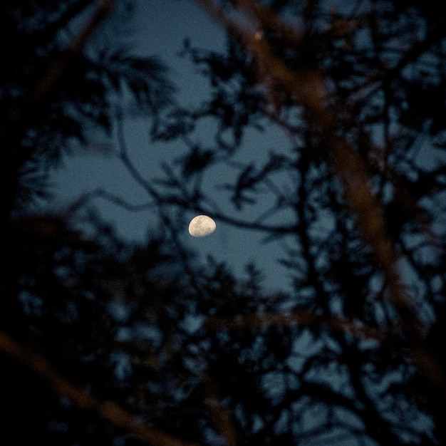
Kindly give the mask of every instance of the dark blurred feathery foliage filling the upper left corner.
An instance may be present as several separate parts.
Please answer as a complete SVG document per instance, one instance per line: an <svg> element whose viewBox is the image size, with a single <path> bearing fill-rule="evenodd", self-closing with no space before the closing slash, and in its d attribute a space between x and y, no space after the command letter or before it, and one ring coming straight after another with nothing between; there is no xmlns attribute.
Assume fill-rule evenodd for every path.
<svg viewBox="0 0 446 446"><path fill-rule="evenodd" d="M103 33L106 3L105 29L98 29ZM115 3L116 14L131 4ZM0 138L6 155L0 177L6 210L48 195L48 167L57 167L73 146L85 145L93 131L110 135L129 95L140 113L152 116L171 98L173 86L157 58L138 58L105 38L98 46L98 37L96 45L76 47L76 39L90 31L95 11L100 15L99 5L67 0L0 6ZM109 26L116 27L116 21Z"/></svg>

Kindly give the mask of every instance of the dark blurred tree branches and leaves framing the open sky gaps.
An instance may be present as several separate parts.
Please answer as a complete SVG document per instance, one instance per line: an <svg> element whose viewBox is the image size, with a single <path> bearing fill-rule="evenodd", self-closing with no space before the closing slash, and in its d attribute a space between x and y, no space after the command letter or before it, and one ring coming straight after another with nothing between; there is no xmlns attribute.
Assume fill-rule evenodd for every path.
<svg viewBox="0 0 446 446"><path fill-rule="evenodd" d="M185 40L209 85L192 108L174 102L160 61L79 41L80 23L100 32L108 6L132 4L0 6L8 432L67 445L444 444L443 14L415 0L199 1L227 46ZM184 149L158 181L126 150L128 95L154 141ZM81 226L35 213L48 170L92 128L117 129L165 232L128 244L89 197L72 208L90 210ZM252 148L270 133L283 138ZM265 234L291 288L284 277L267 292L255 264L243 277L200 265L177 237L186 209Z"/></svg>

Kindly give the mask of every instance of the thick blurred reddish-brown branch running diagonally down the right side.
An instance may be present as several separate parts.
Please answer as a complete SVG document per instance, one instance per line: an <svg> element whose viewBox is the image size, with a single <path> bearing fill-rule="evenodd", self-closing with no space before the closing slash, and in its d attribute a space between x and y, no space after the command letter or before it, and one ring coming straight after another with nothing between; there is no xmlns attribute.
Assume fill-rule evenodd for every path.
<svg viewBox="0 0 446 446"><path fill-rule="evenodd" d="M332 110L328 110L325 103L328 92L321 71L317 68L292 71L284 61L274 56L268 43L256 35L254 32L256 20L260 18L264 21L266 20L265 16L269 14L271 16L268 19L269 24L274 24L277 31L286 30L289 36L289 27L283 24L274 12L269 11L267 14L266 11L261 11L259 16L255 12L258 6L254 1L236 2L233 19L213 0L197 0L197 2L253 53L264 76L274 78L299 103L304 105L308 119L316 125L320 132L333 172L341 179L346 200L358 218L358 227L363 238L368 242L382 266L390 291L390 299L398 309L400 323L413 345L413 359L427 375L427 378L432 383L436 383L443 395L446 396L444 373L436 364L435 359L427 353L425 348L420 346L420 340L424 336L423 326L418 318L416 308L400 280L399 257L386 232L385 221L378 201L370 189L367 167L346 138L338 134L336 115L333 115ZM296 30L295 41L300 41L299 30ZM260 78L259 83L262 82L267 83L267 80ZM269 92L269 94L274 94L274 92Z"/></svg>

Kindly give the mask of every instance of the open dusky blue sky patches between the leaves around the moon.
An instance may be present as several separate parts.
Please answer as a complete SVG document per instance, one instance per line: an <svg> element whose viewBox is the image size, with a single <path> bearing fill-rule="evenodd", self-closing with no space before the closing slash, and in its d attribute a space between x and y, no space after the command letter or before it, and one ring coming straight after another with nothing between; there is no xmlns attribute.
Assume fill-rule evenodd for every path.
<svg viewBox="0 0 446 446"><path fill-rule="evenodd" d="M132 52L159 56L167 63L170 77L177 85L177 100L181 105L192 105L197 98L203 98L207 88L206 79L199 76L197 68L192 66L187 58L180 58L178 53L186 37L190 38L192 46L223 48L222 29L190 0L139 0L134 19L133 35L130 39ZM125 122L129 155L147 179L160 177L160 163L169 162L184 150L180 141L153 144L148 137L149 128L150 123L145 118L128 118ZM209 141L212 141L211 129L207 132L207 129L203 128L201 132L204 140L209 137ZM281 136L275 135L272 129L261 135L251 133L239 156L244 161L259 160L262 154L266 155L271 146L277 143L278 138ZM102 136L98 136L96 140L93 138L93 147L100 147L103 143ZM116 141L111 141L111 145L116 152ZM222 184L230 180L227 175L227 170L214 170L212 181ZM66 160L65 167L55 172L53 182L56 185L56 206L72 201L97 187L123 197L131 204L141 204L148 199L142 187L135 183L122 162L113 154L95 155L94 151L93 154L85 151L70 157ZM210 179L208 182L208 185L204 182L204 187L212 190L215 184L212 184ZM220 202L217 195L213 198ZM156 231L158 222L153 218L152 211L129 212L99 198L95 199L95 204L103 217L113 222L118 234L125 239L142 241L147 231ZM261 212L261 209L258 211ZM186 212L184 217L188 224L195 214ZM261 243L264 234L229 227L217 220L217 230L212 235L195 239L188 234L187 224L180 234L181 239L202 254L202 261L206 261L206 254L212 254L219 261L227 261L236 274L241 273L247 262L255 261L264 271L266 289L284 289L283 274L286 274L286 271L276 264L281 251L274 243Z"/></svg>

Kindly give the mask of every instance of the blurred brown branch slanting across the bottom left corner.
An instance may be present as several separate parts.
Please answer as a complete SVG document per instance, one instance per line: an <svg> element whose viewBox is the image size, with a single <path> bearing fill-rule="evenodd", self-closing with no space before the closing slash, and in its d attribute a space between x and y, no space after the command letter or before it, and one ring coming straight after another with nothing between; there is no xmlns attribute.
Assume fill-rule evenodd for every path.
<svg viewBox="0 0 446 446"><path fill-rule="evenodd" d="M58 395L70 399L79 408L92 410L104 420L110 421L118 427L123 427L149 445L194 446L192 443L183 442L179 438L169 435L166 432L145 426L142 422L136 420L133 415L111 401L97 400L86 390L76 387L66 380L66 378L63 378L62 375L53 369L46 358L43 358L36 351L31 351L29 348L22 346L20 343L14 341L7 333L1 331L0 351L4 351L16 361L23 363L26 367L33 370L43 380L46 380Z"/></svg>

